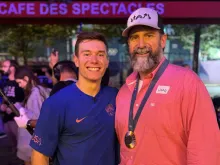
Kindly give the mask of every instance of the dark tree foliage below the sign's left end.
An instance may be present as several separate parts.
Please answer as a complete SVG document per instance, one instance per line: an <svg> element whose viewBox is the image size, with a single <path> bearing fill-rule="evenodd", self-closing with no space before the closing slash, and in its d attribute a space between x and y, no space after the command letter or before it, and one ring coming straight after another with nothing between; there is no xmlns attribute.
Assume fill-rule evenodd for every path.
<svg viewBox="0 0 220 165"><path fill-rule="evenodd" d="M1 25L0 43L8 47L8 53L15 58L23 57L24 63L33 56L36 43L43 41L50 46L55 39L68 38L73 26L61 25Z"/></svg>

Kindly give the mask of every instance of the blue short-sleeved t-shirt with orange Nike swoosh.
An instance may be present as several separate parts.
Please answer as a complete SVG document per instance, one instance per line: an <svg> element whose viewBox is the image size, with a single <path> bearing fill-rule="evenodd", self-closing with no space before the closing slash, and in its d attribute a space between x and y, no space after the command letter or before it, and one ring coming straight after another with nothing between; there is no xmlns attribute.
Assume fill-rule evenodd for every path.
<svg viewBox="0 0 220 165"><path fill-rule="evenodd" d="M30 142L55 165L115 165L115 100L118 90L102 87L95 96L72 84L42 106Z"/></svg>

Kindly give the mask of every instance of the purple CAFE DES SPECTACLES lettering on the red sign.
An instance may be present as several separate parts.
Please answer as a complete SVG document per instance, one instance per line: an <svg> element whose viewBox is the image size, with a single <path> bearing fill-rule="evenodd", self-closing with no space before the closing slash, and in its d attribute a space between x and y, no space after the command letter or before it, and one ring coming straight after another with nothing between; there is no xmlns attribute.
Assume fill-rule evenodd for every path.
<svg viewBox="0 0 220 165"><path fill-rule="evenodd" d="M128 16L140 7L164 14L164 3L157 2L0 2L0 16Z"/></svg>

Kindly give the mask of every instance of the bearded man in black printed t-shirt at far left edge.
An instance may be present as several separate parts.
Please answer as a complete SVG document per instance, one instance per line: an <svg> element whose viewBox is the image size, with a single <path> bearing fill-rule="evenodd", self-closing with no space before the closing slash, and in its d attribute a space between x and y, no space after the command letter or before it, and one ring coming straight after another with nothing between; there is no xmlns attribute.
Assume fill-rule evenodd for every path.
<svg viewBox="0 0 220 165"><path fill-rule="evenodd" d="M5 60L2 62L1 70L8 80L2 81L1 88L11 103L22 102L24 91L15 81L15 71L18 63L15 60ZM7 114L8 104L2 100L0 104L0 164L20 165L21 160L16 156L18 127L14 121L14 114ZM7 136L7 137L6 137Z"/></svg>

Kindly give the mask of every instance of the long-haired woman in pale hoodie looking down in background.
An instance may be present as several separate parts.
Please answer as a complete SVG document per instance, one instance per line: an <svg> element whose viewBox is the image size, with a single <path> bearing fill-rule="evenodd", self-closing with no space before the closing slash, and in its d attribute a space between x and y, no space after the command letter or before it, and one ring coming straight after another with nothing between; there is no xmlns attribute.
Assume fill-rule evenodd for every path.
<svg viewBox="0 0 220 165"><path fill-rule="evenodd" d="M24 89L25 93L24 101L16 102L14 104L21 114L24 113L24 115L14 118L19 126L17 156L24 160L25 165L30 165L32 149L29 146L29 143L31 140L31 135L25 129L26 123L30 119L38 119L42 103L49 96L50 89L42 86L39 82L39 79L28 67L18 68L15 72L15 80L18 85ZM11 111L7 110L7 113L10 114Z"/></svg>

